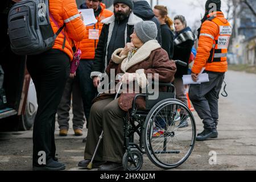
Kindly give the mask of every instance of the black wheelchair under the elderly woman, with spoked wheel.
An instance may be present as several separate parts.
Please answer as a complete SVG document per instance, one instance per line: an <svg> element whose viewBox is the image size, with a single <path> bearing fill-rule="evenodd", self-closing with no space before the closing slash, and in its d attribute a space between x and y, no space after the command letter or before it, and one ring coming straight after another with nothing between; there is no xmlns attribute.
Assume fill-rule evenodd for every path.
<svg viewBox="0 0 256 182"><path fill-rule="evenodd" d="M154 84L154 83L153 83ZM156 166L163 168L163 169L171 169L175 168L177 166L180 166L182 163L185 162L185 160L188 159L189 155L191 154L193 147L195 146L195 138L196 138L196 125L195 125L195 119L193 118L193 114L188 109L186 105L183 104L183 102L177 100L175 98L175 86L171 83L159 83L159 86L167 86L167 93L170 93L170 96L168 94L164 93L164 96L160 96L160 100L155 100L154 102L151 102L149 105L147 105L147 98L148 98L148 92L146 94L137 94L133 100L133 107L130 112L127 113L125 118L125 126L124 126L124 151L125 154L123 155L123 167L125 170L129 171L138 171L141 169L143 164L143 154L147 154L148 158L151 160L152 163L154 163ZM146 107L147 110L137 110L137 107L135 105L135 102L138 97L144 97L146 100ZM164 98L166 97L166 98ZM190 148L188 152L181 158L178 162L172 164L172 163L163 163L156 155L159 154L180 154L179 150L167 150L167 138L168 137L174 137L175 132L166 132L167 134L164 134L163 136L163 150L162 151L152 151L152 146L150 143L147 142L147 135L152 135L151 132L148 132L146 129L148 126L148 123L151 122L150 114L155 113L155 110L160 105L178 105L180 109L184 109L188 117L191 121L191 143ZM152 108L149 110L149 108ZM174 108L172 108L174 109ZM175 114L176 110L174 109ZM154 115L154 114L153 114ZM173 115L170 115L170 117L174 118ZM157 118L157 117L156 117ZM186 118L186 119L187 119ZM154 121L152 121L153 123ZM137 124L136 124L137 123ZM152 123L150 124L150 131L152 130ZM167 129L167 123L165 126L165 129ZM178 127L179 128L179 127ZM167 130L166 130L167 131ZM184 132L184 131L182 131ZM137 133L139 135L139 144L134 142L134 134ZM150 138L148 140L151 140Z"/></svg>

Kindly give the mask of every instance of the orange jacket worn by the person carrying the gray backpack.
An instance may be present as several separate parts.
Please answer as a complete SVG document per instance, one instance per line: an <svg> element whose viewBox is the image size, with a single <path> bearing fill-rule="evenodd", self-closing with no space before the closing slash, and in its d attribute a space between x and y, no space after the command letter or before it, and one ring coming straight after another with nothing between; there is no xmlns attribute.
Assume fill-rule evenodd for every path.
<svg viewBox="0 0 256 182"><path fill-rule="evenodd" d="M49 1L49 12L52 14L55 22L59 27L65 27L60 32L55 40L53 49L59 49L69 56L70 60L73 59L72 40L81 41L85 37L86 27L80 18L80 14L77 10L75 0L55 0ZM57 32L59 27L55 22L50 19L53 32ZM65 47L63 49L64 34L66 35Z"/></svg>

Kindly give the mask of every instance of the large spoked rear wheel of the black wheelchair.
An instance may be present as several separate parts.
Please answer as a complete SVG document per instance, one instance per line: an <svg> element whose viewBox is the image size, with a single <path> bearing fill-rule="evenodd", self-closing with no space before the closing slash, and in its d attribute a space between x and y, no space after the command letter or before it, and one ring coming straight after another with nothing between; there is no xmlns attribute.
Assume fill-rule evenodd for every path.
<svg viewBox="0 0 256 182"><path fill-rule="evenodd" d="M148 113L143 129L147 156L163 169L180 166L195 145L195 119L188 107L176 99L158 102Z"/></svg>

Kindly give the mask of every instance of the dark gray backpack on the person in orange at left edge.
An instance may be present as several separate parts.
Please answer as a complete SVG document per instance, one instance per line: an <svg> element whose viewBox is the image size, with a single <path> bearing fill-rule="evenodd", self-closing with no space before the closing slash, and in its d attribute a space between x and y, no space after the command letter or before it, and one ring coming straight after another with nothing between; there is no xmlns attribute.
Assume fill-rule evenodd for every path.
<svg viewBox="0 0 256 182"><path fill-rule="evenodd" d="M49 21L48 0L22 0L11 7L8 26L11 49L14 53L38 55L52 48L65 24L54 34Z"/></svg>

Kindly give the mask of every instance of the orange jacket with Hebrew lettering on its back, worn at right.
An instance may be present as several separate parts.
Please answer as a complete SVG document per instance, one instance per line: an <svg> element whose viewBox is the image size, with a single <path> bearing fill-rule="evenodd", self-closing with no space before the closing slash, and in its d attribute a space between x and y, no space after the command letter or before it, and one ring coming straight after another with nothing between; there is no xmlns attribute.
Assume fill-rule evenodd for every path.
<svg viewBox="0 0 256 182"><path fill-rule="evenodd" d="M201 26L193 73L200 73L203 67L205 71L220 73L228 69L226 53L232 28L221 11L213 12L209 17L212 18L205 20Z"/></svg>

